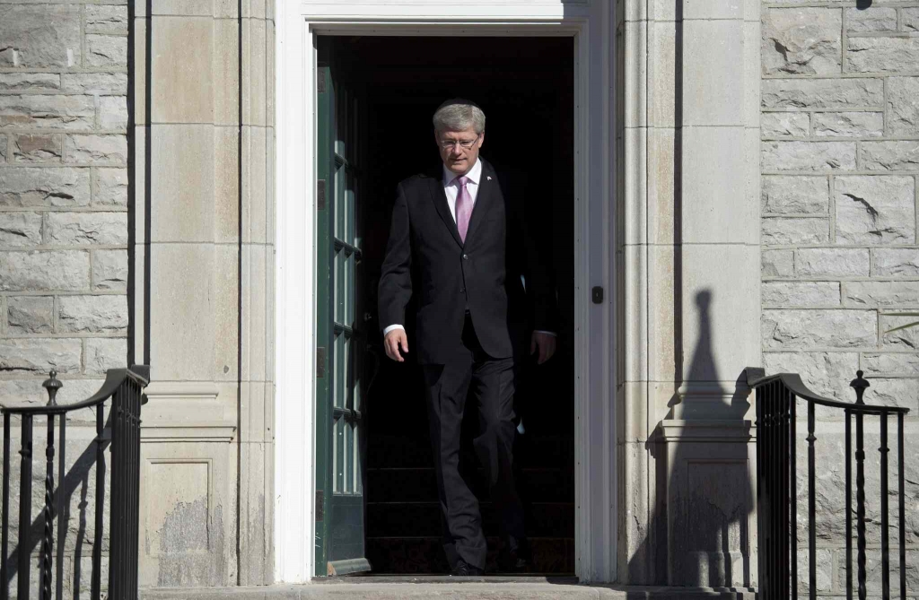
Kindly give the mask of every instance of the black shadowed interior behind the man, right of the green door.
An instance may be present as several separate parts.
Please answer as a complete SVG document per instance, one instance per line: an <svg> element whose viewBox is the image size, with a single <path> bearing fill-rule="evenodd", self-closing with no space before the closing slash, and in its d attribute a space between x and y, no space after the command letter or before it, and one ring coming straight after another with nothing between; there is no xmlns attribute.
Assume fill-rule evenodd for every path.
<svg viewBox="0 0 919 600"><path fill-rule="evenodd" d="M550 245L561 323L558 352L528 365L516 406L526 433L516 462L534 571L574 571L573 452L573 40L571 38L337 37L335 55L346 84L366 103L367 187L359 194L363 282L358 304L369 347L381 353L376 289L396 184L438 168L431 115L448 97L478 103L487 117L482 157L498 172L524 175L528 214ZM411 313L411 310L408 311ZM386 324L386 323L384 323ZM409 323L411 335L411 324ZM410 338L411 339L411 338ZM414 360L386 358L365 400L367 414L366 552L373 572L447 571L425 403ZM373 361L370 361L373 362ZM474 419L466 424L472 429ZM470 432L474 434L474 431ZM469 439L470 436L465 436ZM464 472L480 497L495 572L497 523L471 444Z"/></svg>

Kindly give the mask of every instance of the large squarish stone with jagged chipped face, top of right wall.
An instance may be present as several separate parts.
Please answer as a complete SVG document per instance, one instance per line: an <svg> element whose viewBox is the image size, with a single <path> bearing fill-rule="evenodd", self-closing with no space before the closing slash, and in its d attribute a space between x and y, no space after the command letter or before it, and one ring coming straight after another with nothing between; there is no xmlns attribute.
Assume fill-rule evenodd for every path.
<svg viewBox="0 0 919 600"><path fill-rule="evenodd" d="M843 53L842 23L840 10L764 9L763 73L839 73Z"/></svg>

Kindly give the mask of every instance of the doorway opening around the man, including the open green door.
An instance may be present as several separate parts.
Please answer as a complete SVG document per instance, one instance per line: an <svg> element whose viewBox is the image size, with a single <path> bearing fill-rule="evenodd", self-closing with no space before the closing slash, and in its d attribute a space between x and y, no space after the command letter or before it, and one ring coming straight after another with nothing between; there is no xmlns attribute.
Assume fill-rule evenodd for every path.
<svg viewBox="0 0 919 600"><path fill-rule="evenodd" d="M328 376L317 379L316 395L317 503L323 502L321 513L317 506L316 574L368 565L374 573L447 571L421 377L411 354L403 365L382 354L376 286L396 184L437 168L430 118L452 96L482 107L488 119L482 157L499 174L528 182L528 214L538 215L535 230L550 247L547 267L561 312L558 350L546 365L523 369L516 394L523 433L515 458L534 571L572 573L573 39L317 40L317 73L330 74L317 91L335 99L325 114L323 98L333 96L317 101L319 145L323 131L331 145L325 175L317 165L323 182L316 220L317 337ZM317 157L323 162L322 147ZM411 341L410 323L408 329ZM471 447L464 448L463 467L481 500L494 572L497 524Z"/></svg>

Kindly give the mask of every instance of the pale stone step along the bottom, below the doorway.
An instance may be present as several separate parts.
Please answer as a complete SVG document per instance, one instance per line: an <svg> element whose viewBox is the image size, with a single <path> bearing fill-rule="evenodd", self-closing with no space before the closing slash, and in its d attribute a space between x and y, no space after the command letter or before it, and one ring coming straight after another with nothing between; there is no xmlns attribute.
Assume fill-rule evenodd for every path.
<svg viewBox="0 0 919 600"><path fill-rule="evenodd" d="M749 590L581 585L571 578L481 577L458 582L446 576L361 577L305 585L267 587L156 588L141 590L142 600L754 600Z"/></svg>

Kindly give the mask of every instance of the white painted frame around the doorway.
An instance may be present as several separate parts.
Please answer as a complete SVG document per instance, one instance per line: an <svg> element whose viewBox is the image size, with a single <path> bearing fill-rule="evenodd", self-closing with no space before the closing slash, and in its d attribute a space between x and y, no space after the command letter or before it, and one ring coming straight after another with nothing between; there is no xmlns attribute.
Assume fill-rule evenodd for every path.
<svg viewBox="0 0 919 600"><path fill-rule="evenodd" d="M316 52L321 34L570 36L574 39L576 572L617 572L615 106L607 0L277 0L275 579L314 572ZM592 289L604 300L594 303Z"/></svg>

